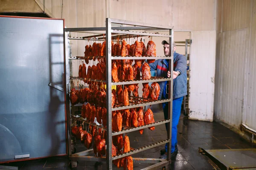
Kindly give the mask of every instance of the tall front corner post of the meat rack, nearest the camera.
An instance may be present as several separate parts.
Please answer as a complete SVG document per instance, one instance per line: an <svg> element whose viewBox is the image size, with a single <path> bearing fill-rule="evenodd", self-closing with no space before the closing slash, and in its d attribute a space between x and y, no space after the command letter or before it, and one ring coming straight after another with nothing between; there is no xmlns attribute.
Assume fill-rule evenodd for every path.
<svg viewBox="0 0 256 170"><path fill-rule="evenodd" d="M106 80L107 80L107 168L112 170L112 108L111 108L111 19L106 18Z"/></svg>

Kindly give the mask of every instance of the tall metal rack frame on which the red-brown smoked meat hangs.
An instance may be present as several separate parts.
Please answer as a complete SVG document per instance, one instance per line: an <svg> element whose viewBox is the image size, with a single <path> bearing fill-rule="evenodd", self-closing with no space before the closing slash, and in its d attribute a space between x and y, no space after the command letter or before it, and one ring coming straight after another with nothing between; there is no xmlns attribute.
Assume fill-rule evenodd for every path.
<svg viewBox="0 0 256 170"><path fill-rule="evenodd" d="M125 25L125 27L112 27L111 24L116 23L116 24L122 24ZM126 25L130 25L130 27L127 27ZM147 31L147 30L169 30L169 34L158 34L158 33L147 33L147 32L142 32L139 30ZM169 164L171 163L171 153L170 148L171 148L171 134L172 134L172 77L171 78L163 78L163 77L152 77L150 80L142 80L142 79L134 79L134 81L119 81L119 82L112 82L111 79L111 60L112 59L169 59L169 71L171 72L171 75L173 75L173 60L171 54L173 54L173 43L170 43L170 55L169 57L120 57L120 56L111 56L111 34L113 37L117 37L118 35L124 35L128 37L129 35L136 35L136 36L155 36L155 37L169 37L170 42L173 40L173 27L163 27L163 26L157 26L157 25L151 25L151 24L144 24L144 23L137 23L137 22L130 22L126 20L117 20L117 19L111 19L111 18L106 18L106 27L97 27L97 28L65 28L66 32L66 41L68 42L68 39L72 40L88 40L90 37L82 37L82 38L68 38L67 33L73 31L73 32L86 32L86 31L105 31L105 38L106 38L106 81L104 80L99 80L99 79L87 79L89 81L96 81L96 82L105 82L106 83L106 102L107 102L107 127L102 128L99 125L96 125L95 123L90 123L90 125L101 127L103 130L107 131L107 140L106 140L106 156L103 157L96 157L96 156L87 156L89 153L93 152L93 149L90 150L85 150L80 153L76 154L71 154L71 125L70 125L70 119L77 119L79 121L88 123L85 119L82 118L77 118L75 116L70 115L70 100L69 100L69 95L67 95L66 99L66 109L67 109L67 136L68 136L68 155L71 160L72 167L76 167L76 162L77 161L106 161L107 162L107 167L108 170L112 170L112 161L115 159L119 159L125 156L130 156L134 153L141 152L143 150L150 149L152 147L159 146L161 144L169 143L168 144L168 154L167 154L167 159L143 159L143 158L133 158L134 162L140 162L140 163L154 163L153 165L146 167L144 169L157 169L159 167L166 166L169 167ZM104 35L103 35L104 36ZM98 36L91 36L91 37L102 37L102 34ZM112 37L112 38L113 38ZM67 51L67 43L65 44L66 48L66 54L69 54ZM67 94L70 92L70 80L71 79L81 79L84 80L84 78L79 78L79 77L70 77L69 74L69 61L70 59L83 59L84 57L69 57L66 55L66 80L67 80ZM85 78L86 79L86 78ZM145 99L142 97L134 97L134 96L129 96L130 101L136 101L136 102L131 102L130 105L128 106L123 106L123 105L115 105L114 108L111 108L111 86L112 85L127 85L127 84L136 84L136 83L145 83L145 82L160 82L160 81L169 81L169 99L162 99L162 100L153 100L153 99ZM112 131L112 111L118 111L118 110L123 110L123 109L129 109L129 108L137 108L141 106L146 106L146 105L154 105L158 103L163 103L163 102L168 102L169 104L169 115L167 120L159 121L152 123L150 125L144 125L141 127L124 127L123 130L119 132L114 132ZM116 136L119 134L124 134L124 133L129 133L135 130L140 130L140 129L145 129L148 127L152 126L157 126L157 125L162 125L162 124L168 124L168 133L167 133L167 139L163 141L159 141L141 148L133 149L131 148L131 151L128 153L123 153L119 154L117 156L112 157L112 136Z"/></svg>

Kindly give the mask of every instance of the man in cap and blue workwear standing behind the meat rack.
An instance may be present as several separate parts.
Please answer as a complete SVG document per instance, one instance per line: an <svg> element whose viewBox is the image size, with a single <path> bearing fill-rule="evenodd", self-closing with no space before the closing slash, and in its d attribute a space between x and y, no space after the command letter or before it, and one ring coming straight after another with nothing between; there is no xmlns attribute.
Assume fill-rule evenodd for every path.
<svg viewBox="0 0 256 170"><path fill-rule="evenodd" d="M169 41L163 40L163 50L166 57L169 57ZM180 118L181 104L183 96L187 95L187 74L186 74L186 58L175 52L176 46L174 43L173 54L173 101L172 101L172 148L171 159L177 156L177 125ZM150 63L150 70L157 70L157 77L171 77L169 70L169 60L157 59ZM160 95L158 99L168 98L168 84L167 82L158 82L160 85ZM166 88L167 87L167 88ZM168 103L163 103L164 118L168 119ZM166 124L167 130L167 124ZM161 159L167 158L167 143L165 149L161 150Z"/></svg>

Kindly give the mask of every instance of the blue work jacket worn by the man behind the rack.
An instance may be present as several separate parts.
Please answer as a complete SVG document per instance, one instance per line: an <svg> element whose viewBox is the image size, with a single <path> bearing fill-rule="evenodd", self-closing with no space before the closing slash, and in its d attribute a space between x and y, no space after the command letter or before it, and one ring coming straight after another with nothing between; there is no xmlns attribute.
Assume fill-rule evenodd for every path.
<svg viewBox="0 0 256 170"><path fill-rule="evenodd" d="M173 80L173 99L180 98L187 95L187 74L186 74L186 57L181 54L174 53L173 70L180 71L180 75ZM167 77L168 63L166 59L157 59L150 63L150 71L157 71L157 77ZM158 100L168 98L166 94L166 83L158 82L160 85L160 95Z"/></svg>

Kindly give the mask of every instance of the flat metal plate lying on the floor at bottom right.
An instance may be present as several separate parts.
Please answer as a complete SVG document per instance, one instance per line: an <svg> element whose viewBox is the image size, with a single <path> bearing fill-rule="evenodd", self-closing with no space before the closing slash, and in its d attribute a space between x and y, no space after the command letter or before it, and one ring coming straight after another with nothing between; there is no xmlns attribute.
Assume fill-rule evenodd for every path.
<svg viewBox="0 0 256 170"><path fill-rule="evenodd" d="M256 170L256 149L205 150L221 164L231 169Z"/></svg>

